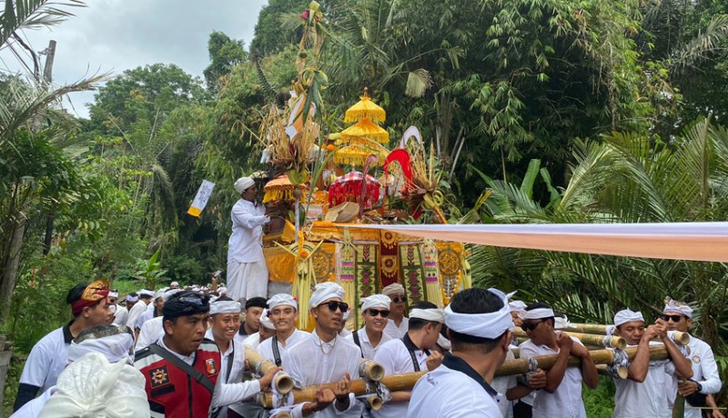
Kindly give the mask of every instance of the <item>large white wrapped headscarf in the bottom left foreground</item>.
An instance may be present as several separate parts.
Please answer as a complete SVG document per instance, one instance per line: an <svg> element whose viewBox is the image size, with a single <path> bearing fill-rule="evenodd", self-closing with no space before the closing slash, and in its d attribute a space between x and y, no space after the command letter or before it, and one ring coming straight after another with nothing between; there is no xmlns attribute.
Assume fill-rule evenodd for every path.
<svg viewBox="0 0 728 418"><path fill-rule="evenodd" d="M58 375L56 393L38 418L137 418L150 416L145 378L125 362L88 353Z"/></svg>

